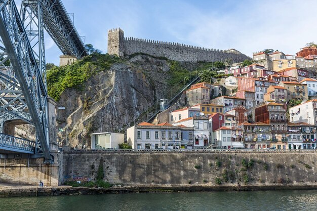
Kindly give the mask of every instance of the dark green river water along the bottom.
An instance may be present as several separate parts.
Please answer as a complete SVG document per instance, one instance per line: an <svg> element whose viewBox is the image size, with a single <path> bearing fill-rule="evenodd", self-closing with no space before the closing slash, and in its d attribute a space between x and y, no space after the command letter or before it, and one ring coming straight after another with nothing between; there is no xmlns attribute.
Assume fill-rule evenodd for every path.
<svg viewBox="0 0 317 211"><path fill-rule="evenodd" d="M317 190L14 197L0 210L317 210Z"/></svg>

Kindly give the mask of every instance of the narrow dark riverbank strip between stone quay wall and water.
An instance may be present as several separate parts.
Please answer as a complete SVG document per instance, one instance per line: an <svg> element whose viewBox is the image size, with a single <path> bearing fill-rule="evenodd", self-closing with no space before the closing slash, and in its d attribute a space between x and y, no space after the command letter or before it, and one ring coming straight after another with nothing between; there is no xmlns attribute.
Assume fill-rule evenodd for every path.
<svg viewBox="0 0 317 211"><path fill-rule="evenodd" d="M22 196L59 196L59 195L97 195L118 193L153 193L153 192L203 192L203 191L263 191L263 190L317 190L315 184L262 184L262 185L204 185L204 186L127 186L112 188L86 188L86 187L34 187L12 186L0 187L0 197Z"/></svg>

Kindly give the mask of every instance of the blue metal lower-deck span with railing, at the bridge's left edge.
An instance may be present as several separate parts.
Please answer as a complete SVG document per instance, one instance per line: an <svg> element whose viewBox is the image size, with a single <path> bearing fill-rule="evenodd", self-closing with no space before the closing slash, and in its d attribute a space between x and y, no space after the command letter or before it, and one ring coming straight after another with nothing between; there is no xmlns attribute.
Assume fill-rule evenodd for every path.
<svg viewBox="0 0 317 211"><path fill-rule="evenodd" d="M0 133L0 149L4 148L32 154L35 152L35 142Z"/></svg>

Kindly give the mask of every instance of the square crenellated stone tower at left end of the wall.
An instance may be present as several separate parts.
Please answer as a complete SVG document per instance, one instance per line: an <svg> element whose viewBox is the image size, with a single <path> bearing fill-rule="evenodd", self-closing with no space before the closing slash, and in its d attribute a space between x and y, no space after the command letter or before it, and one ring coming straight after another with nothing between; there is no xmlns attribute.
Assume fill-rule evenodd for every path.
<svg viewBox="0 0 317 211"><path fill-rule="evenodd" d="M121 28L110 29L108 31L108 54L124 56L125 33Z"/></svg>

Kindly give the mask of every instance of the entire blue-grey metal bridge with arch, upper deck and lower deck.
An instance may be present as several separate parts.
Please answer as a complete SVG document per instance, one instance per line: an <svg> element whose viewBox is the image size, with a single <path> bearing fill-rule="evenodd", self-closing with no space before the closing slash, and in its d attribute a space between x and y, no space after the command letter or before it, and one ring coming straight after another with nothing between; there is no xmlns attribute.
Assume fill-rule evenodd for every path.
<svg viewBox="0 0 317 211"><path fill-rule="evenodd" d="M0 153L44 156L49 146L44 29L65 55L81 58L85 46L59 0L0 0ZM32 124L36 140L14 137L8 125ZM10 133L10 134L9 134Z"/></svg>

